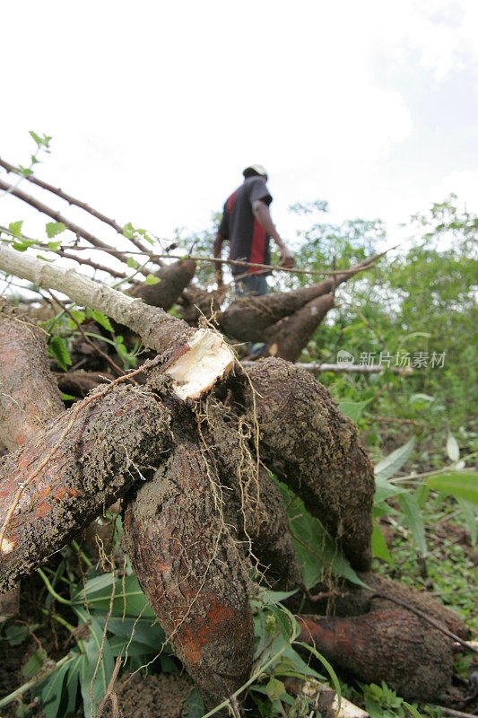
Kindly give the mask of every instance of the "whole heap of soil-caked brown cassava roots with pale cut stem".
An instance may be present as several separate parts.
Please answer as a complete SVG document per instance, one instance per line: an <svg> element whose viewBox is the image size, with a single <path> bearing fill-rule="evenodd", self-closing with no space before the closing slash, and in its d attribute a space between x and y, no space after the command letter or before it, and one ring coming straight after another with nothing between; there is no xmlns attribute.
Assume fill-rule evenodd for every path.
<svg viewBox="0 0 478 718"><path fill-rule="evenodd" d="M126 250L72 229L125 261ZM0 440L9 453L0 463L0 591L122 497L135 574L206 705L238 691L254 653L251 576L309 596L268 470L322 521L351 565L369 572L369 457L330 393L290 362L334 306L335 288L375 260L222 309L218 293L190 285L193 260L155 267L161 281L132 285L128 295L0 246L0 270L104 313L154 357L114 380L105 379L110 367L100 357L95 372L56 372L54 381L43 335L2 300ZM174 305L182 319L164 311ZM231 343L264 342L269 358L244 371L220 332ZM109 337L98 326L89 333ZM133 378L138 383L126 381ZM80 400L65 410L57 384ZM385 679L405 697L437 696L451 680L453 639L413 607L452 635L465 638L465 626L414 591L361 578L368 590L339 587L334 617L325 602L306 602L300 640L359 679ZM397 596L411 609L397 606Z"/></svg>

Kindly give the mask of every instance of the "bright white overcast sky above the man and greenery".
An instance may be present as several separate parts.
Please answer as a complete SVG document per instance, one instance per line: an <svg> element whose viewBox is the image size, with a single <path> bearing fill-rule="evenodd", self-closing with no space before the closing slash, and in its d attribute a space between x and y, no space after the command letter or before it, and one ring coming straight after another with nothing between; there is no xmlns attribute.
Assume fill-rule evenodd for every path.
<svg viewBox="0 0 478 718"><path fill-rule="evenodd" d="M391 237L450 191L476 210L477 0L22 0L2 25L0 155L53 136L39 178L120 223L204 229L251 162L284 239L316 198Z"/></svg>

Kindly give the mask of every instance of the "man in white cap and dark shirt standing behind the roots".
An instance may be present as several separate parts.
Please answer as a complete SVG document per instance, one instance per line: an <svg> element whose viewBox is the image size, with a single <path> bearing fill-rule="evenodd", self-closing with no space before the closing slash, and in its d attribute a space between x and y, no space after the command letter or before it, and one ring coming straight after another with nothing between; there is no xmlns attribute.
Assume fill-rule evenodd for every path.
<svg viewBox="0 0 478 718"><path fill-rule="evenodd" d="M221 257L222 242L230 243L230 259L253 264L271 263L269 240L281 251L281 266L293 267L294 258L274 227L269 212L273 198L267 189L267 172L261 164L251 164L242 172L244 182L224 204L222 221L213 245L214 258ZM231 265L237 294L267 293L265 277L270 270ZM222 288L222 265L216 263L216 281Z"/></svg>

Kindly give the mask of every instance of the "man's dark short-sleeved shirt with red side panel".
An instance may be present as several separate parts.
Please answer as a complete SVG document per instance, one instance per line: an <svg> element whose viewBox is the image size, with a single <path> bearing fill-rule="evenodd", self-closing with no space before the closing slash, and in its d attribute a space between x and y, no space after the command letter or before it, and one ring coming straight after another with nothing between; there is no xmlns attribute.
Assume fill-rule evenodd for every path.
<svg viewBox="0 0 478 718"><path fill-rule="evenodd" d="M270 264L271 250L269 235L257 222L252 212L252 203L260 199L270 205L273 198L269 194L264 177L248 177L233 192L224 204L222 221L218 232L230 242L230 259L241 259L255 264ZM264 269L232 265L232 275L265 274Z"/></svg>

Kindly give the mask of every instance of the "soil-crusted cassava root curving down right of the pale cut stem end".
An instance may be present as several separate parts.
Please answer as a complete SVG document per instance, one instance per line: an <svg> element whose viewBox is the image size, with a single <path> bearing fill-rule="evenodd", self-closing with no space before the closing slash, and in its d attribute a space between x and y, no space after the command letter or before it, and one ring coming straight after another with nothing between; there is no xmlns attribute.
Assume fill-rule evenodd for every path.
<svg viewBox="0 0 478 718"><path fill-rule="evenodd" d="M373 467L357 426L308 372L265 359L249 372L247 418L260 428L265 465L337 538L352 566L371 563Z"/></svg>

